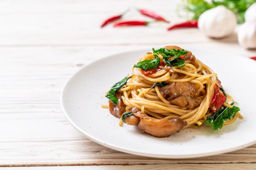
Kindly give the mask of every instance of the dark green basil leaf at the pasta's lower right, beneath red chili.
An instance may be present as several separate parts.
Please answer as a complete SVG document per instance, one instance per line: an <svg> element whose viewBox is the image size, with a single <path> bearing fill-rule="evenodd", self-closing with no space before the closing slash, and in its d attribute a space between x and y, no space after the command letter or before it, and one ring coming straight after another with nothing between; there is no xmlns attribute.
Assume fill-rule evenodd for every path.
<svg viewBox="0 0 256 170"><path fill-rule="evenodd" d="M232 102L231 105L234 105L234 102ZM207 120L204 122L209 124L214 130L221 129L224 121L234 118L238 111L240 111L239 107L233 106L229 108L223 105L218 111L213 113L213 115L208 116Z"/></svg>

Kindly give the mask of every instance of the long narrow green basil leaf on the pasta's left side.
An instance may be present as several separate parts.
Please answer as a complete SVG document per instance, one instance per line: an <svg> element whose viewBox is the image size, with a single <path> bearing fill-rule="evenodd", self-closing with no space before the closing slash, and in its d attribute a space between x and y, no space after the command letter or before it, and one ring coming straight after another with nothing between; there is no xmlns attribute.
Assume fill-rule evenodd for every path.
<svg viewBox="0 0 256 170"><path fill-rule="evenodd" d="M108 98L112 103L117 104L118 102L118 98L115 96L115 94L117 93L117 91L119 89L121 89L124 85L126 85L127 81L130 77L125 77L124 79L122 79L121 81L115 83L111 89L109 90L108 94L106 95L106 98Z"/></svg>

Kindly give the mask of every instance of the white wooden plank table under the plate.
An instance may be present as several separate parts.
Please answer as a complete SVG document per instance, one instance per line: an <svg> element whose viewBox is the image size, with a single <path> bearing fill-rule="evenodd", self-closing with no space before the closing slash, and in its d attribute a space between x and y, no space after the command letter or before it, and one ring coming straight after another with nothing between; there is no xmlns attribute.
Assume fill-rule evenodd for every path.
<svg viewBox="0 0 256 170"><path fill-rule="evenodd" d="M176 5L172 0L0 1L0 170L255 169L256 145L195 159L141 157L92 142L63 115L60 93L67 79L109 54L177 45L256 55L241 48L235 34L213 40L196 28L167 32L165 23L99 28L106 17L132 6L180 22Z"/></svg>

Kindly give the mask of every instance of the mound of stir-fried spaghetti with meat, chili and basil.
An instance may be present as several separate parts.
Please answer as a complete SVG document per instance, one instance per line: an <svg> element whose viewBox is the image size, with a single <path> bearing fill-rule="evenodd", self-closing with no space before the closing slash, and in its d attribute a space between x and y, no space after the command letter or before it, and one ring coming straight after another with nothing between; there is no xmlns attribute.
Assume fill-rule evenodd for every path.
<svg viewBox="0 0 256 170"><path fill-rule="evenodd" d="M180 49L181 51L181 48L176 46L167 46L165 49ZM153 61L157 57L160 59L157 68L143 70L143 68L132 67L131 78L127 78L125 85L118 90L119 104L124 103L124 111L130 112L130 116L133 114L140 119L140 122L146 118L145 116L148 116L148 119L159 119L159 121L181 119L186 123L182 126L183 129L197 128L204 122L208 122L207 124L213 126L213 129L218 129L222 127L223 122L224 125L231 124L237 117L243 118L238 112L238 107L234 107L233 103L228 104L232 98L221 88L217 74L200 60L195 59L191 52L178 56L184 60L182 66L171 63L172 67L170 67L170 63L164 60L164 57L167 58L166 55L161 52L147 53L139 59L138 63L150 61L149 59ZM110 101L112 114L117 108L121 111L120 107L122 106L119 104L115 105ZM134 111L132 108L137 109ZM144 116L138 116L138 112ZM113 115L121 117L123 113L118 114ZM219 118L220 115L224 117L222 120ZM126 118L130 116L126 116ZM123 120L126 121L126 119ZM152 123L150 127L139 126L139 128L150 133L152 128L160 128L160 126L156 126L154 127ZM155 133L150 134L155 135Z"/></svg>

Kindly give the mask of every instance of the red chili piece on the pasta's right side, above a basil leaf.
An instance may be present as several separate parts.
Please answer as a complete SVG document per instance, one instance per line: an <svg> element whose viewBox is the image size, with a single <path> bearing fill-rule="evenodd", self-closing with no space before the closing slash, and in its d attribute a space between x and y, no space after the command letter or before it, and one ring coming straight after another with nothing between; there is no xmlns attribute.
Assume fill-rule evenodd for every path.
<svg viewBox="0 0 256 170"><path fill-rule="evenodd" d="M211 111L215 113L222 107L224 102L226 101L226 96L223 94L223 92L220 90L220 87L217 85L217 88L215 89L215 92L213 94L213 97L211 99Z"/></svg>

